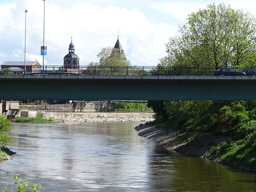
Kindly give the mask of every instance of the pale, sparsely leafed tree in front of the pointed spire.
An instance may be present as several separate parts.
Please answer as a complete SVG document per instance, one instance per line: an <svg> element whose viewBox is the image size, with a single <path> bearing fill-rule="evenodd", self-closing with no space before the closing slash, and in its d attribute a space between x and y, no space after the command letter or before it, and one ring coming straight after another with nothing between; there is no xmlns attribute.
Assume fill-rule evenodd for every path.
<svg viewBox="0 0 256 192"><path fill-rule="evenodd" d="M103 47L98 53L98 63L91 62L89 66L130 66L129 60L124 60L119 49Z"/></svg>

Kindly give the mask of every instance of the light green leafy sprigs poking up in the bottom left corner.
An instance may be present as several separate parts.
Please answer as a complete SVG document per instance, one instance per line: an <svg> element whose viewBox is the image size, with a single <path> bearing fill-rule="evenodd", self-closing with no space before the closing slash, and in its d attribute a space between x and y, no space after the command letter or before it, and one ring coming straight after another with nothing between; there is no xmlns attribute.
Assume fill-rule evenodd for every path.
<svg viewBox="0 0 256 192"><path fill-rule="evenodd" d="M15 175L14 178L16 189L15 191L12 189L11 192L39 192L39 189L41 188L41 184L29 183L26 179L21 182L19 174ZM7 192L7 185L5 185L2 192Z"/></svg>

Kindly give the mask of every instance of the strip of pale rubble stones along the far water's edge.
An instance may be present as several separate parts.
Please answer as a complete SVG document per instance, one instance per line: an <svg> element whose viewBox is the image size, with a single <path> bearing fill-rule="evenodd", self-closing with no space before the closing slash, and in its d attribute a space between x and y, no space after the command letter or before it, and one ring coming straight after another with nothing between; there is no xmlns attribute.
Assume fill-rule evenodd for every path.
<svg viewBox="0 0 256 192"><path fill-rule="evenodd" d="M53 118L54 123L77 124L85 122L150 122L153 118L116 118L116 117L86 117L86 118Z"/></svg>

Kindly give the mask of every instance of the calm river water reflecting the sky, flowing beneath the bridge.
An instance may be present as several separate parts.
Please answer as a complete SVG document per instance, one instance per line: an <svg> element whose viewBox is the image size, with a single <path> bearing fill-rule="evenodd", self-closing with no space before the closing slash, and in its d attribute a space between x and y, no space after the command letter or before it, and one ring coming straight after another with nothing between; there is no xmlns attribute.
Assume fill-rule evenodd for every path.
<svg viewBox="0 0 256 192"><path fill-rule="evenodd" d="M166 151L137 135L139 123L14 124L0 163L0 191L14 174L41 183L41 192L256 191L256 174Z"/></svg>

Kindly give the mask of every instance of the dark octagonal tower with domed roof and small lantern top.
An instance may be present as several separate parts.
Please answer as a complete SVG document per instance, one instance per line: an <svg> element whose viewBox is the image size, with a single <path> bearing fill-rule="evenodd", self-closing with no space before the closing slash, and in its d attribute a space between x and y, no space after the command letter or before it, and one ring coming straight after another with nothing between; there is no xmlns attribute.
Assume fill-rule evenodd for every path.
<svg viewBox="0 0 256 192"><path fill-rule="evenodd" d="M79 68L79 57L75 54L75 46L72 42L69 44L68 54L64 57L64 67L77 69Z"/></svg>

